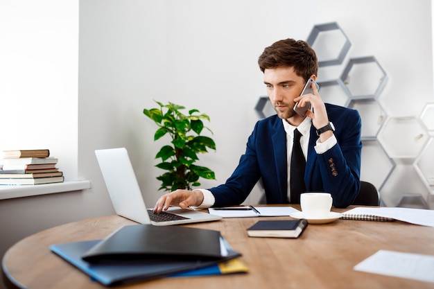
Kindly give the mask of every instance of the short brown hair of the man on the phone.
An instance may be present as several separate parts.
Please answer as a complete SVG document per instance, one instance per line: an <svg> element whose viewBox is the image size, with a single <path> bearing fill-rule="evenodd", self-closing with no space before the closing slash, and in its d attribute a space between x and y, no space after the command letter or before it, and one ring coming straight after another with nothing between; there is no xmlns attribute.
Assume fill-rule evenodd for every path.
<svg viewBox="0 0 434 289"><path fill-rule="evenodd" d="M315 51L303 40L279 40L264 49L259 56L261 71L277 67L294 67L295 73L307 81L318 73L318 59Z"/></svg>

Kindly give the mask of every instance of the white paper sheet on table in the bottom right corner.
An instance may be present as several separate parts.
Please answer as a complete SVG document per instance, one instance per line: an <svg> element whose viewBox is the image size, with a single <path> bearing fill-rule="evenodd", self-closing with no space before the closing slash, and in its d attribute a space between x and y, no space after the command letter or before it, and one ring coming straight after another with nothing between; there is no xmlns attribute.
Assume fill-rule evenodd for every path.
<svg viewBox="0 0 434 289"><path fill-rule="evenodd" d="M354 270L434 282L434 256L379 250Z"/></svg>

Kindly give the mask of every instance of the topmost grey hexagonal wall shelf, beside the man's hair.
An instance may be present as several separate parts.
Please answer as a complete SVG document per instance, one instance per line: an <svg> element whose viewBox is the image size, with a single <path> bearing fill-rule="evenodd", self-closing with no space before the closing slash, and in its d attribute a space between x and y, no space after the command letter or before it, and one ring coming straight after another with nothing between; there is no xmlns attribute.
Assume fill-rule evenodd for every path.
<svg viewBox="0 0 434 289"><path fill-rule="evenodd" d="M306 42L315 50L320 67L341 64L351 42L336 22L313 26Z"/></svg>

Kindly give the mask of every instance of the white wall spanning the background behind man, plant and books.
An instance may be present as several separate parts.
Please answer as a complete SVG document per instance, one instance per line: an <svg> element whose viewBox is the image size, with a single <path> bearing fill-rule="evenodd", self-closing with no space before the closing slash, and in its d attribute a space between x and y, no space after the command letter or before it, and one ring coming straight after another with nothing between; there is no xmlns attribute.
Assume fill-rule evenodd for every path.
<svg viewBox="0 0 434 289"><path fill-rule="evenodd" d="M0 149L51 148L65 177L91 179L92 189L0 201L0 255L35 231L113 213L95 149L127 147L146 202L159 198L154 156L162 142L153 142L155 125L142 113L156 107L153 99L209 114L217 151L200 162L217 180L202 184L224 182L266 94L257 67L263 48L306 39L331 21L353 44L348 57L374 55L387 71L379 101L389 116L417 116L434 101L428 0L2 0ZM401 176L426 194L412 168L392 179ZM384 189L393 204L401 192ZM257 198L255 189L249 202Z"/></svg>

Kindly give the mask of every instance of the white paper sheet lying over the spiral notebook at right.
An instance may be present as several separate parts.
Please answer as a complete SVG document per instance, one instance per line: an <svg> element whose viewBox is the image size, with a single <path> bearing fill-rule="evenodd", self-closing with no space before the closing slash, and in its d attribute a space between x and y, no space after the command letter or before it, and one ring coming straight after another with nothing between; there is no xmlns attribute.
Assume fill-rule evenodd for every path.
<svg viewBox="0 0 434 289"><path fill-rule="evenodd" d="M346 211L344 214L346 213L393 218L403 222L410 222L415 225L434 227L434 210L428 209L410 209L399 207L357 207Z"/></svg>

